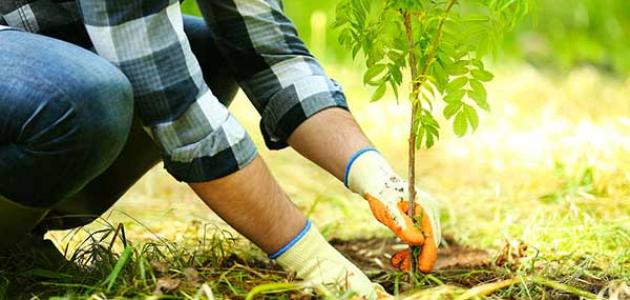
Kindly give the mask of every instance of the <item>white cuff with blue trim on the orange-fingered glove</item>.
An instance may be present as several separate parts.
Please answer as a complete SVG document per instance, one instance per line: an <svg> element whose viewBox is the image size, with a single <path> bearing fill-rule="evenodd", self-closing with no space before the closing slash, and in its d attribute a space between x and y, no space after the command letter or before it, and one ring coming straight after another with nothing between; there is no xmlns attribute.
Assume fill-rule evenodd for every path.
<svg viewBox="0 0 630 300"><path fill-rule="evenodd" d="M346 164L345 185L353 192L377 196L392 177L398 177L387 160L374 148L363 148Z"/></svg>

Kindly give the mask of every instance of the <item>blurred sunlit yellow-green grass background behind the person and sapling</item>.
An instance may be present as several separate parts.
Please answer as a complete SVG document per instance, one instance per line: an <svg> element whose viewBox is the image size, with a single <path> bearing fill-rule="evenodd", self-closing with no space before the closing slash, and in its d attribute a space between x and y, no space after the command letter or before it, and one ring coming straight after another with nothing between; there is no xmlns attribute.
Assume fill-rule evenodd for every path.
<svg viewBox="0 0 630 300"><path fill-rule="evenodd" d="M628 278L630 2L537 2L488 62L496 75L488 85L492 112L481 116L477 132L461 139L439 120L441 141L419 153L418 186L442 201L444 231L460 243L495 249L504 239L519 239L541 257L568 259L562 263L566 268L573 267L571 260L590 257L601 266L597 272ZM359 123L404 175L409 106L393 95L369 103L364 66L338 44L331 26L336 3L284 1L312 53L344 86ZM198 13L190 0L183 6ZM267 151L259 115L244 95L230 110L289 196L328 238L390 235L337 180L293 150ZM128 238L137 240L161 236L183 242L199 234L199 222L193 221L223 226L162 166L104 218L125 223ZM102 222L82 231L99 226ZM72 245L67 233L53 236Z"/></svg>

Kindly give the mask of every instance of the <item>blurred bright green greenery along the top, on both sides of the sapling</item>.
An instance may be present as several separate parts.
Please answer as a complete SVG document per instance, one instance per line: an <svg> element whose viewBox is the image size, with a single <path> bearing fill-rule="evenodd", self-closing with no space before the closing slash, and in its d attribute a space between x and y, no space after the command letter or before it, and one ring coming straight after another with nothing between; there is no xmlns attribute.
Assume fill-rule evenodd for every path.
<svg viewBox="0 0 630 300"><path fill-rule="evenodd" d="M337 0L285 0L285 10L300 35L321 59L348 62L350 55L332 30ZM595 65L630 72L630 1L539 0L535 12L505 39L500 60L524 60L537 67L567 71ZM196 14L195 2L184 11Z"/></svg>

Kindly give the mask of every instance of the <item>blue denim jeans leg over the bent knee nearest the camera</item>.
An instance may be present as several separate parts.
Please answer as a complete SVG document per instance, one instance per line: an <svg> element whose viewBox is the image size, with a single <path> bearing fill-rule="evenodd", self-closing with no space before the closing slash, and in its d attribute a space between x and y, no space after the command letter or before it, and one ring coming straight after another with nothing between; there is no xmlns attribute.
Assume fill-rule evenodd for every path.
<svg viewBox="0 0 630 300"><path fill-rule="evenodd" d="M48 207L120 153L132 119L127 78L104 59L30 33L0 32L0 194Z"/></svg>

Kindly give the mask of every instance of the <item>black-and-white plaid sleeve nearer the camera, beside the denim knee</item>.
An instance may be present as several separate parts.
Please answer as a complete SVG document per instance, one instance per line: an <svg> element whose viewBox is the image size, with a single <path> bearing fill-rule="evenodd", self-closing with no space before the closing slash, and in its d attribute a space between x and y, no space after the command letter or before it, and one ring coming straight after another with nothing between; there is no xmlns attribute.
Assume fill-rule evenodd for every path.
<svg viewBox="0 0 630 300"><path fill-rule="evenodd" d="M80 0L99 55L129 78L136 113L176 179L203 182L249 164L247 132L209 90L176 0Z"/></svg>

